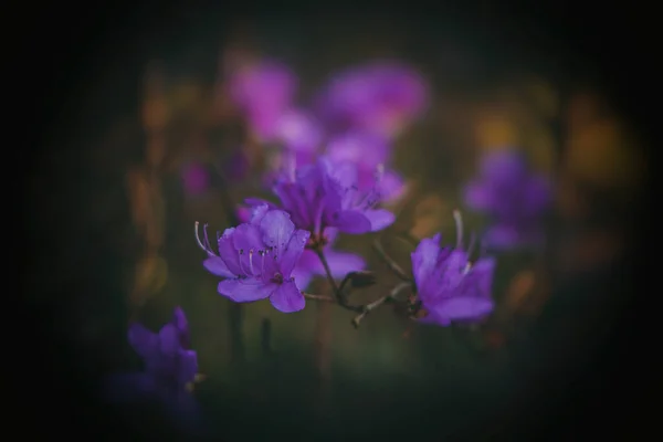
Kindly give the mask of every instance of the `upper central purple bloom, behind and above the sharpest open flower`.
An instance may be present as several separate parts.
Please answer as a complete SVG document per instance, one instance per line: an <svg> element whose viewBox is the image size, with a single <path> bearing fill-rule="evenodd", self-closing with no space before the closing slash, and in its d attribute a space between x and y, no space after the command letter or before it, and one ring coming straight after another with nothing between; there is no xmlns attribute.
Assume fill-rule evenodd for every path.
<svg viewBox="0 0 663 442"><path fill-rule="evenodd" d="M393 213L376 209L381 201L377 186L379 177L373 182L371 189L361 191L356 164L332 164L328 158L320 157L311 165L287 167L274 183L273 191L295 225L312 232L312 239L319 241L326 228L360 234L376 232L393 223ZM265 201L248 199L246 203L259 206Z"/></svg>

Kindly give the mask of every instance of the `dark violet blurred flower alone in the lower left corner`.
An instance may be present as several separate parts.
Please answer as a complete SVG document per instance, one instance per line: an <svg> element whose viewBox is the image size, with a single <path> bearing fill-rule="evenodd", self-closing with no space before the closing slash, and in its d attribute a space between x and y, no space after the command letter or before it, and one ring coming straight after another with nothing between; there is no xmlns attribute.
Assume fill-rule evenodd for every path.
<svg viewBox="0 0 663 442"><path fill-rule="evenodd" d="M159 333L141 324L129 326L128 340L145 362L144 372L106 379L106 397L114 401L160 400L178 419L194 419L198 406L191 388L198 373L198 356L190 349L189 325L180 307Z"/></svg>

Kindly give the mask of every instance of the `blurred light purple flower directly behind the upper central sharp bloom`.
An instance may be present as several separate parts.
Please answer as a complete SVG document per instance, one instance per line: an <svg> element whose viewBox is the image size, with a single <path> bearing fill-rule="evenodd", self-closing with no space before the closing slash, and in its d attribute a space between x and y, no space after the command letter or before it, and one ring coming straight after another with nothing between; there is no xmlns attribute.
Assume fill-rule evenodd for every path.
<svg viewBox="0 0 663 442"><path fill-rule="evenodd" d="M391 156L391 146L383 136L370 133L351 131L333 138L327 144L327 157L332 162L352 161L357 165L359 190L367 190L375 183L376 170L382 169L378 188L383 201L402 197L406 185L401 176L385 168Z"/></svg>

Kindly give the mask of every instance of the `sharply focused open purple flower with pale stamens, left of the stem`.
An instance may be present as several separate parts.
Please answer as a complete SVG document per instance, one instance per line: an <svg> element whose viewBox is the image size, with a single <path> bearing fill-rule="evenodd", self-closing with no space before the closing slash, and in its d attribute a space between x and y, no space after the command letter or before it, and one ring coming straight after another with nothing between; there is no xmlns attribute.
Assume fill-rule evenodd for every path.
<svg viewBox="0 0 663 442"><path fill-rule="evenodd" d="M290 214L254 208L251 221L225 229L218 238L219 253L214 253L207 231L204 243L198 244L208 253L204 267L224 280L219 293L238 303L270 298L283 313L304 308L305 299L292 276L309 233L295 229Z"/></svg>

